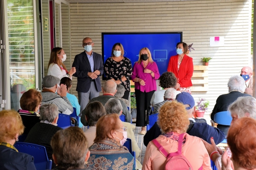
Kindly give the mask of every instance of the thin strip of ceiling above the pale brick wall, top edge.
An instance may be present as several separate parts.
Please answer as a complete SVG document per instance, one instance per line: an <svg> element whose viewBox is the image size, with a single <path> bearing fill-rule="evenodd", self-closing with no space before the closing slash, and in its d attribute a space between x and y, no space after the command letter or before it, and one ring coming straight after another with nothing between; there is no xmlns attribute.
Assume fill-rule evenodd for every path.
<svg viewBox="0 0 256 170"><path fill-rule="evenodd" d="M117 3L117 2L173 2L173 1L192 1L192 0L66 0L69 3Z"/></svg>

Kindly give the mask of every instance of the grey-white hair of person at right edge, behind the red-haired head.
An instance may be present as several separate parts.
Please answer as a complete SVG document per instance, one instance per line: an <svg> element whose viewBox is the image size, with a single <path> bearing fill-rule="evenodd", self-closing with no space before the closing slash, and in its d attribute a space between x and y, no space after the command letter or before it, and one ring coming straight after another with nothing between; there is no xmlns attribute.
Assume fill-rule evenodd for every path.
<svg viewBox="0 0 256 170"><path fill-rule="evenodd" d="M238 97L229 107L231 115L237 115L238 118L244 117L249 113L250 117L256 119L256 99L251 96Z"/></svg>

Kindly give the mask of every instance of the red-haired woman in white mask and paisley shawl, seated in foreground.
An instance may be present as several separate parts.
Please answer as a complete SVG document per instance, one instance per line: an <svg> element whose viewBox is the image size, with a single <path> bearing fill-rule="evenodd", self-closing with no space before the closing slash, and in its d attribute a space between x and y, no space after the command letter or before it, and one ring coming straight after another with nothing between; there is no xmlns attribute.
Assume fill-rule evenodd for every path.
<svg viewBox="0 0 256 170"><path fill-rule="evenodd" d="M90 150L87 169L126 169L135 170L134 157L128 149L120 144L124 139L123 127L119 115L102 116L97 122L96 138Z"/></svg>

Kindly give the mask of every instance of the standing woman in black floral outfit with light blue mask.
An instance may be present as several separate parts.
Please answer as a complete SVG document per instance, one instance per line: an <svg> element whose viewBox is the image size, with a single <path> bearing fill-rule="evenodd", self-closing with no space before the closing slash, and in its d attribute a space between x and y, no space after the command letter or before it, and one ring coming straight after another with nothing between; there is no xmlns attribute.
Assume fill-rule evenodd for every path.
<svg viewBox="0 0 256 170"><path fill-rule="evenodd" d="M130 59L123 57L124 50L121 43L114 44L111 57L105 64L104 70L107 80L113 80L116 84L121 84L125 88L123 99L127 99L130 94L130 76L132 75L132 64Z"/></svg>

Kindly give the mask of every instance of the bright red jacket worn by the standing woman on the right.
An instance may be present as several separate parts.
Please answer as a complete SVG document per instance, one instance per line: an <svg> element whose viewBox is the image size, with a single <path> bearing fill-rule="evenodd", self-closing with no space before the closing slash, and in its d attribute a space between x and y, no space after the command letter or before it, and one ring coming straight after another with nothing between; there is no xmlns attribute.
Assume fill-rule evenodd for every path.
<svg viewBox="0 0 256 170"><path fill-rule="evenodd" d="M175 74L180 87L192 86L191 77L193 75L194 66L193 59L187 55L184 55L178 71L178 55L171 56L167 71L171 71Z"/></svg>

